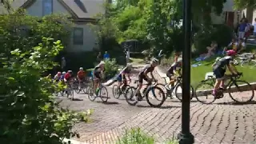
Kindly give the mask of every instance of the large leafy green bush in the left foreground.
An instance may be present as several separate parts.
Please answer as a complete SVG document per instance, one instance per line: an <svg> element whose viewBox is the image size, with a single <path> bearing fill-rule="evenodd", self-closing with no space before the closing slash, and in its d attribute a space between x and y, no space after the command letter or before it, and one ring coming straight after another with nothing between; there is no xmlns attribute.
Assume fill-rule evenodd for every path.
<svg viewBox="0 0 256 144"><path fill-rule="evenodd" d="M17 47L18 48L18 47ZM42 73L56 64L52 62L61 41L42 38L38 46L15 49L0 57L0 140L2 143L61 144L62 138L74 135L74 123L87 121L91 111L74 114L58 106L52 97L50 78Z"/></svg>

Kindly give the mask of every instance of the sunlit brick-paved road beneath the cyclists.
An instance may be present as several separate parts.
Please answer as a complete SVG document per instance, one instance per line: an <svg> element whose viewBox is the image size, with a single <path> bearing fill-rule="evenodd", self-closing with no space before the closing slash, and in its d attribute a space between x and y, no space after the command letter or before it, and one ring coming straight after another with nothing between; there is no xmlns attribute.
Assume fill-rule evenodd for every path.
<svg viewBox="0 0 256 144"><path fill-rule="evenodd" d="M112 94L111 88L108 88ZM109 104L100 100L90 102L86 95L76 94L82 101L70 102L63 98L62 106L71 110L94 109L92 122L74 127L81 134L79 141L114 143L131 127L141 127L159 143L175 137L181 128L181 102L168 100L162 108L150 108L146 102L128 106L123 98L110 96ZM190 129L195 143L250 143L256 142L256 105L234 105L226 95L214 104L202 105L195 101L190 106Z"/></svg>

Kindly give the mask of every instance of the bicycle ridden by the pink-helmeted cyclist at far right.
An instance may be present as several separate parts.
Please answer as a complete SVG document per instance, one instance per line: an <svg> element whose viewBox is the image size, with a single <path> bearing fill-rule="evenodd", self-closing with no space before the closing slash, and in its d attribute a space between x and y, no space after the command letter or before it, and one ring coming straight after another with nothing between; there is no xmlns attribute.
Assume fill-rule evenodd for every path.
<svg viewBox="0 0 256 144"><path fill-rule="evenodd" d="M226 79L229 81L227 82L226 86L224 86L225 89L222 89L222 88L218 89L215 96L212 94L214 83L215 83L215 78L213 76L210 76L209 79L203 80L202 82L200 82L198 84L198 86L196 86L195 91L194 91L195 98L197 98L198 102L201 102L203 104L211 104L216 99L223 98L224 92L227 92L230 95L230 98L234 102L238 102L238 103L250 102L254 98L254 89L252 88L252 86L250 86L249 82L238 80L238 78L241 78L241 76L242 76L242 74L226 75ZM243 85L238 85L238 82L243 83ZM199 90L201 88L201 86L203 87L203 89ZM251 91L250 98L246 102L241 102L241 101L237 100L236 98L234 98L234 96L232 95L232 93L235 90L246 91L246 90L242 90L242 86L245 86L248 91ZM226 88L228 88L228 89L226 89ZM208 98L210 96L213 96L214 98L211 98L211 99ZM201 99L204 97L206 97L206 100L210 99L210 102L206 102L206 100Z"/></svg>

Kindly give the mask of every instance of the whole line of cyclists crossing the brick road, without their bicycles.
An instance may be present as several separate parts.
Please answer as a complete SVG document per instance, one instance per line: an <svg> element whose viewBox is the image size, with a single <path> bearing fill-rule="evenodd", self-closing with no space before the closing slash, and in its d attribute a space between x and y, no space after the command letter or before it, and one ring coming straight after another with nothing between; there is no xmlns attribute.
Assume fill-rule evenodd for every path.
<svg viewBox="0 0 256 144"><path fill-rule="evenodd" d="M238 72L238 70L234 66L234 56L236 55L235 50L226 50L226 56L223 58L218 58L216 62L214 62L213 65L213 72L216 77L216 82L214 84L214 90L212 94L215 96L216 91L218 89L225 89L224 87L224 76L226 73L226 67L228 70L230 70L231 74L239 75L241 73ZM171 89L174 86L174 82L176 81L176 78L182 76L181 70L182 70L182 58L180 58L181 54L176 53L174 58L174 63L170 65L170 67L166 70L166 76L170 78L170 82L166 84L166 89ZM138 73L138 88L135 92L136 96L138 97L138 101L142 100L142 95L140 93L140 90L142 89L142 83L143 80L147 82L147 86L150 86L152 81L156 81L154 78L154 68L158 66L158 59L153 58L150 62L150 64L144 66L142 70ZM99 62L97 66L94 67L94 71L92 72L92 78L93 78L93 91L94 94L96 94L96 89L98 88L100 82L103 80L104 75L104 68L105 68L105 62ZM124 88L124 86L127 86L127 82L130 81L130 71L132 70L132 65L128 63L126 67L118 74L118 77L116 81L118 82L118 89L121 90ZM148 76L150 73L151 78ZM56 81L63 81L63 82L69 82L70 78L72 78L72 71L68 70L66 72L58 72L54 76L54 80ZM82 67L80 67L77 79L79 84L83 82L86 78L86 72L83 70ZM79 85L80 86L80 85Z"/></svg>

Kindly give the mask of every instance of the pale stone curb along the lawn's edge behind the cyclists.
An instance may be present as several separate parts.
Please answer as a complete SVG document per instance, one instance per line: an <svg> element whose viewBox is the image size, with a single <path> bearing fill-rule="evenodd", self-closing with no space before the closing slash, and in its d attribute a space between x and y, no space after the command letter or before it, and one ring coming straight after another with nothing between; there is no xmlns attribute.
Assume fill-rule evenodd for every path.
<svg viewBox="0 0 256 144"><path fill-rule="evenodd" d="M166 77L166 74L162 73L162 70L159 70L158 67L156 67L155 70L156 70L157 74L158 74L161 78L165 78L165 77ZM169 78L166 79L166 82L170 82L170 81L169 81ZM256 82L251 82L251 83L250 83L250 86L252 86L253 90L256 90ZM242 91L250 90L250 87L247 86L247 85L240 85L239 88L242 89ZM209 93L209 92L211 92L211 91L212 91L212 90L202 90L202 91L198 91L198 93L199 93L199 94L200 94L200 93L205 94L205 93ZM235 88L235 87L231 87L231 89L230 89L230 92L231 92L231 93L234 93L234 92L237 92L237 91L238 91L238 90L237 90L237 88ZM226 91L226 92L227 92L227 91ZM199 95L199 94L198 94L198 95Z"/></svg>

